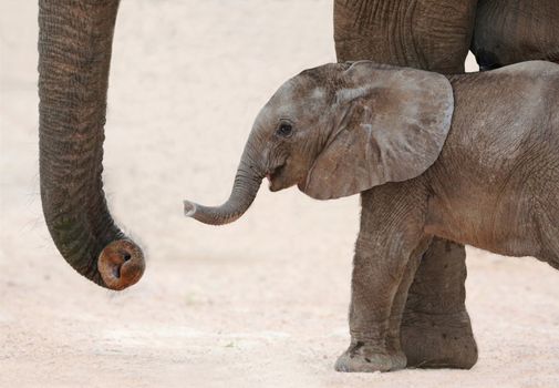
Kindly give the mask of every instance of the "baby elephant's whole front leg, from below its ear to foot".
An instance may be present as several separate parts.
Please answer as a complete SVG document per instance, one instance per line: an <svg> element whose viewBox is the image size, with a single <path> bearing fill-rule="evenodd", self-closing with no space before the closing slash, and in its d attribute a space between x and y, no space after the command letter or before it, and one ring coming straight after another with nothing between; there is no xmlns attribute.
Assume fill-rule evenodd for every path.
<svg viewBox="0 0 559 388"><path fill-rule="evenodd" d="M404 275L408 266L415 267L410 259L425 241L421 200L417 193L406 192L402 184L387 184L362 194L352 275L351 344L335 364L339 371L387 371L406 366L402 347L394 344L400 340L404 308L397 300L401 293L407 294L410 282ZM402 289L404 285L406 289Z"/></svg>

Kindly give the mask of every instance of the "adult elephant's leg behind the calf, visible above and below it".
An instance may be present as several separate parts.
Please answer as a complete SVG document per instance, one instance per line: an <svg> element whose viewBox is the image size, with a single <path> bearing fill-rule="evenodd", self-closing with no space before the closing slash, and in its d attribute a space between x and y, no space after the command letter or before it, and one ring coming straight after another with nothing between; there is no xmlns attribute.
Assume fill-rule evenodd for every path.
<svg viewBox="0 0 559 388"><path fill-rule="evenodd" d="M476 7L477 0L335 0L338 60L464 72ZM464 305L465 258L464 246L441 239L423 256L401 329L408 365L469 368L476 363Z"/></svg>

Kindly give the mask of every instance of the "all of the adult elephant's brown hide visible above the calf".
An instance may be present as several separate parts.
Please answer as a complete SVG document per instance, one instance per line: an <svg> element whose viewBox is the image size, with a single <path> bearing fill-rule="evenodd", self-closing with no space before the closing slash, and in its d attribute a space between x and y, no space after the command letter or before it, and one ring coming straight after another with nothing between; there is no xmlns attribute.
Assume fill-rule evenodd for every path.
<svg viewBox="0 0 559 388"><path fill-rule="evenodd" d="M439 73L559 61L556 0L334 0L341 61L374 60Z"/></svg>

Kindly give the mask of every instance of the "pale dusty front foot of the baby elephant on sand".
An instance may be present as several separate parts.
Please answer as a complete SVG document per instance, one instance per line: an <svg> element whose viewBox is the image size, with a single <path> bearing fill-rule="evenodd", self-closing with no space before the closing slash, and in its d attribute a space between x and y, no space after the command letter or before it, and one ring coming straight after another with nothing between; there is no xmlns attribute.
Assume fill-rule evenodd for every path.
<svg viewBox="0 0 559 388"><path fill-rule="evenodd" d="M353 341L343 355L335 361L338 371L389 371L403 369L406 366L404 353L389 354L370 346L364 341Z"/></svg>

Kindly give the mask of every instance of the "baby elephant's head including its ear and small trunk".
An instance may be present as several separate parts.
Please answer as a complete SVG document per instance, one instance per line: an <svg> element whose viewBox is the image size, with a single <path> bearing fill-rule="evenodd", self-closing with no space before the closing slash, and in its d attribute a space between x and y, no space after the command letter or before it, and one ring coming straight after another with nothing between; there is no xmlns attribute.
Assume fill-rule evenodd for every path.
<svg viewBox="0 0 559 388"><path fill-rule="evenodd" d="M297 184L329 200L418 176L441 153L453 106L448 80L426 71L369 61L306 70L258 114L229 200L218 207L185 201L185 214L232 222L263 177L271 191Z"/></svg>

